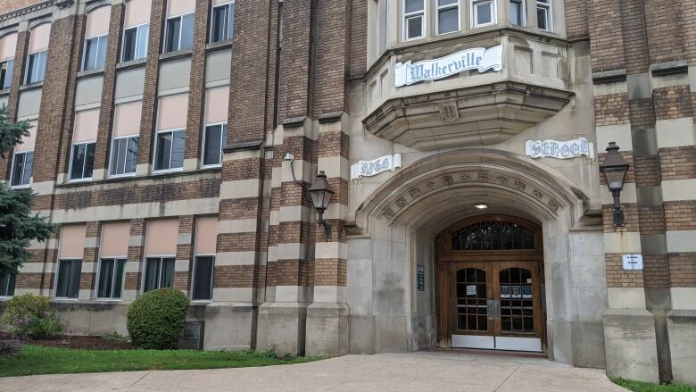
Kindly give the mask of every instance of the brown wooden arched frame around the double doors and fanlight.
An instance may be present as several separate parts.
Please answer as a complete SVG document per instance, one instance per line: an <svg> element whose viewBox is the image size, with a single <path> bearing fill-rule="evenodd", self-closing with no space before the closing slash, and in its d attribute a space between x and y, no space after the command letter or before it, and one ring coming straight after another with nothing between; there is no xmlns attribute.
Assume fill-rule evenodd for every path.
<svg viewBox="0 0 696 392"><path fill-rule="evenodd" d="M534 250L495 250L495 251L452 251L452 231L468 226L472 223L481 221L506 221L519 223L532 229L534 232ZM435 282L435 309L437 310L437 338L439 346L452 346L452 331L454 331L456 320L453 315L456 314L456 301L453 300L456 294L452 290L456 286L456 271L469 265L480 265L480 263L491 262L492 268L485 268L486 276L490 276L486 283L486 291L493 290L495 286L493 279L499 279L500 268L497 265L505 264L526 264L521 262L530 262L527 265L534 265L532 274L533 279L536 279L534 284L534 312L538 314L534 317L534 330L537 331L534 337L542 338L543 351L546 352L546 312L541 304L541 287L544 282L543 276L543 237L542 228L533 221L519 218L513 215L506 214L483 214L458 221L447 229L443 229L435 236L435 266L436 266L436 282ZM534 263L535 262L535 263ZM534 264L532 264L534 263ZM500 292L493 293L495 298L500 300ZM489 296L492 297L492 296ZM489 318L489 321L493 321ZM500 334L501 323L500 318L495 323L493 333L497 336L519 336ZM489 322L489 330L491 322ZM476 335L476 333L471 333ZM493 334L492 334L493 335Z"/></svg>

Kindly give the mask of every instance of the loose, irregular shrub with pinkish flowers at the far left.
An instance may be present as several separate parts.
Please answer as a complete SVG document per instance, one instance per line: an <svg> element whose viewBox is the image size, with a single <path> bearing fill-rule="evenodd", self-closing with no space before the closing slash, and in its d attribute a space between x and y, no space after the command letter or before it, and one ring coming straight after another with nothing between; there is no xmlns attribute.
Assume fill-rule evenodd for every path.
<svg viewBox="0 0 696 392"><path fill-rule="evenodd" d="M16 338L54 338L62 332L62 321L46 296L15 296L7 301L2 322Z"/></svg>

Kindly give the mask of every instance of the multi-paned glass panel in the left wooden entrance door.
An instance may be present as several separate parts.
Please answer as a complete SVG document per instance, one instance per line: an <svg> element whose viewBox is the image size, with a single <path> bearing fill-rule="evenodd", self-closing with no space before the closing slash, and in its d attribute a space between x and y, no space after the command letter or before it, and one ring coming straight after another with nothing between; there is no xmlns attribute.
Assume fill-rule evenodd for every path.
<svg viewBox="0 0 696 392"><path fill-rule="evenodd" d="M485 271L466 268L457 271L457 329L488 330Z"/></svg>

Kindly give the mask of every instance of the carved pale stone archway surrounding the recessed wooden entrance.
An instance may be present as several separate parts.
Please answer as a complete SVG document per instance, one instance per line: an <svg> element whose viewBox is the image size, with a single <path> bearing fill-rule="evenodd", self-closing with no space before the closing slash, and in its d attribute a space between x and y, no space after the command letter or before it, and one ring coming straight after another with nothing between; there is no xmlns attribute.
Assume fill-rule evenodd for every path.
<svg viewBox="0 0 696 392"><path fill-rule="evenodd" d="M377 265L374 271L385 265L391 271L406 271L402 275L403 283L396 279L402 286L394 284L392 288L386 282L387 287L373 289L374 308L380 308L381 293L387 292L385 297L393 298L402 289L403 304L387 300L391 301L392 309L395 303L404 310L398 316L407 324L406 349L436 346L433 238L450 224L480 213L474 204L485 202L489 204L486 213L518 216L543 228L543 260L549 277L543 290L549 298L546 307L550 358L601 366L603 310L600 305L599 311L588 314L582 308L584 301L606 303L603 257L584 254L587 249L579 244L579 241L592 241L598 244L593 247L603 252L601 231L584 229L581 218L587 208L586 200L584 193L558 171L512 154L485 149L459 150L430 155L410 164L381 184L356 213L357 225L371 238L373 253L380 254L372 258L372 263ZM418 292L414 284L417 268L426 271L430 285L425 292ZM380 284L378 280L376 285ZM385 316L376 314L375 318L378 317ZM376 328L377 342L381 333L391 332ZM581 340L601 348L588 353ZM377 345L376 351L379 348ZM398 349L401 348L390 346L387 351Z"/></svg>

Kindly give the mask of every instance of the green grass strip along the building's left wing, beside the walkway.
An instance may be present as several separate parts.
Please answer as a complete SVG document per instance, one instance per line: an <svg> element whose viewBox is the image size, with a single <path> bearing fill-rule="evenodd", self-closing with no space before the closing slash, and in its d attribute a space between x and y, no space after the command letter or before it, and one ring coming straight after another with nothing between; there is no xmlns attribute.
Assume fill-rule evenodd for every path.
<svg viewBox="0 0 696 392"><path fill-rule="evenodd" d="M26 345L16 358L0 359L0 376L218 369L305 363L319 358L278 358L271 352L191 350L73 350Z"/></svg>

